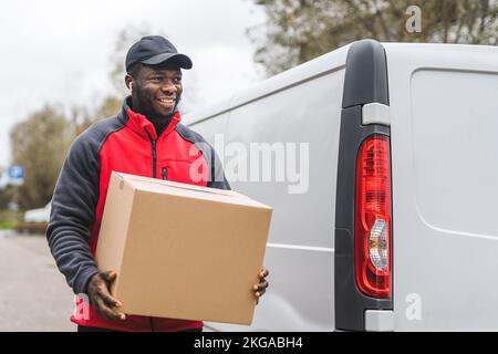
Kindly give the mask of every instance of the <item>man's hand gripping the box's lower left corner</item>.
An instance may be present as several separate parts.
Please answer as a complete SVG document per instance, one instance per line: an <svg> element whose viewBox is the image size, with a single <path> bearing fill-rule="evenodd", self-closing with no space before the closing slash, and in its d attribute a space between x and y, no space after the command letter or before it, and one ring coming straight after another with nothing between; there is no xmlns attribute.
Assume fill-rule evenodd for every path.
<svg viewBox="0 0 498 354"><path fill-rule="evenodd" d="M126 320L126 315L118 311L121 302L111 296L111 282L116 279L116 272L100 272L89 282L89 296L95 310L106 320Z"/></svg>

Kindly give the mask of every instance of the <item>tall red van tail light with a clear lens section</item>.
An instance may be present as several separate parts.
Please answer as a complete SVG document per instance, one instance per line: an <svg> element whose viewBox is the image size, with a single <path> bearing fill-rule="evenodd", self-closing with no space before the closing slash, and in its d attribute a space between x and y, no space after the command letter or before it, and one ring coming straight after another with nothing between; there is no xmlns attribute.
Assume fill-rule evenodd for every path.
<svg viewBox="0 0 498 354"><path fill-rule="evenodd" d="M355 275L367 296L391 299L391 155L390 137L371 135L356 159Z"/></svg>

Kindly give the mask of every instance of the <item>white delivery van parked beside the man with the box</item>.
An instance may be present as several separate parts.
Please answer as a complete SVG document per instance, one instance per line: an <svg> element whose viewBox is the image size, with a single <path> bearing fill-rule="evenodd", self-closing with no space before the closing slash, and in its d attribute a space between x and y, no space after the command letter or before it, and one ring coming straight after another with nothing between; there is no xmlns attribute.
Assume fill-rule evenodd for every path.
<svg viewBox="0 0 498 354"><path fill-rule="evenodd" d="M185 118L274 208L252 325L208 327L498 330L498 48L359 41Z"/></svg>

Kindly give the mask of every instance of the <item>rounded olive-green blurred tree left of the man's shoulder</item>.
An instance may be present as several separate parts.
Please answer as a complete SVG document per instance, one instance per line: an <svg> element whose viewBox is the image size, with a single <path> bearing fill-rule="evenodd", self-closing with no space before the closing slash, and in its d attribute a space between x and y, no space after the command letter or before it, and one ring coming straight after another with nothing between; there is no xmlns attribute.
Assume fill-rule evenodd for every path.
<svg viewBox="0 0 498 354"><path fill-rule="evenodd" d="M52 198L72 138L70 122L50 105L14 125L10 143L12 162L24 168L24 184L15 187L22 209L43 207Z"/></svg>

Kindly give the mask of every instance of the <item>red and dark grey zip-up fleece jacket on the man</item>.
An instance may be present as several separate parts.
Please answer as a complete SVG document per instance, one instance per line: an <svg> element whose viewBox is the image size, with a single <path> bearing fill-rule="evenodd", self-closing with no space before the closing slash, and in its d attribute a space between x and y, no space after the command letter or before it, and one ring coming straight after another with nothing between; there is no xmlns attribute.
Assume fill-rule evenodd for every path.
<svg viewBox="0 0 498 354"><path fill-rule="evenodd" d="M111 173L163 178L229 189L214 148L180 124L178 112L157 136L154 125L132 111L126 98L117 116L95 123L72 144L52 199L46 238L59 270L75 294L85 294L98 272L94 260ZM165 222L175 222L167 220ZM76 301L83 305L83 299ZM81 311L81 309L80 309ZM200 321L127 316L104 320L92 306L89 316L72 316L80 325L123 331L181 331Z"/></svg>

